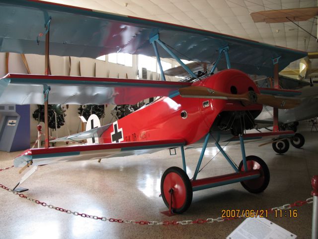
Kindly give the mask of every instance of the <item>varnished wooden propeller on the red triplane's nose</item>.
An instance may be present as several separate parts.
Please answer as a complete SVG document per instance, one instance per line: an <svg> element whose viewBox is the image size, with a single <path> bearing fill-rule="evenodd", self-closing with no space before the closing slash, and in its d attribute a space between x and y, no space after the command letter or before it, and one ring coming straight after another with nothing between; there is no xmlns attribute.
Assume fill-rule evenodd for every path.
<svg viewBox="0 0 318 239"><path fill-rule="evenodd" d="M228 94L218 92L203 86L190 86L179 89L181 97L187 98L208 98L221 100L241 101L243 105L261 104L278 109L290 109L298 106L300 100L275 97L271 95L257 94L254 91L248 91L244 94Z"/></svg>

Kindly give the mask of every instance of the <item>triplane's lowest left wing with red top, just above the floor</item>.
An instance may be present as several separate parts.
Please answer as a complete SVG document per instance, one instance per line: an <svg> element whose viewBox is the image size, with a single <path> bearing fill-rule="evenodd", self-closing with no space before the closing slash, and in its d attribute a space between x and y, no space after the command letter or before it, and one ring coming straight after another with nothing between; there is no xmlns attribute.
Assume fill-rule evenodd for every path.
<svg viewBox="0 0 318 239"><path fill-rule="evenodd" d="M185 145L184 139L30 148L14 159L14 167L23 167L30 161L36 166L56 162L139 155L181 145Z"/></svg>

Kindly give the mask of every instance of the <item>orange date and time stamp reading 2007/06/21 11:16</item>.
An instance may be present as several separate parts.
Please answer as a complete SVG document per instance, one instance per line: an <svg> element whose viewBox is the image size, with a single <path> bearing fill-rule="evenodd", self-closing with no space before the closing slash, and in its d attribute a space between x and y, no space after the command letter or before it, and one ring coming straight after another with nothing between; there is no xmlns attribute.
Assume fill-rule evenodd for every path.
<svg viewBox="0 0 318 239"><path fill-rule="evenodd" d="M227 209L222 210L222 218L267 218L269 214L269 210L244 210L244 209ZM273 212L275 218L297 218L298 212L297 209L293 210L275 210Z"/></svg>

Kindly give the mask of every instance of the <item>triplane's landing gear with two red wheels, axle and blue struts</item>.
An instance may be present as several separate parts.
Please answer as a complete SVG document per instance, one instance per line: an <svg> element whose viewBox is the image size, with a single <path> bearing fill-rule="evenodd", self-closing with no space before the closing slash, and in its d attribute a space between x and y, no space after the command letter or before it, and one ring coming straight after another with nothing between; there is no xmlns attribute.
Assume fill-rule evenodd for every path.
<svg viewBox="0 0 318 239"><path fill-rule="evenodd" d="M260 193L268 186L270 175L266 163L257 156L250 155L245 157L242 135L239 136L242 153L242 161L240 162L239 167L236 166L220 146L220 135L215 142L215 145L235 170L234 173L196 179L209 137L210 134L207 134L197 167L191 180L186 174L183 146L181 146L183 170L178 167L170 167L163 173L160 189L163 202L169 208L168 215L171 215L171 213L185 212L191 205L194 191L240 182L248 192ZM164 212L164 214L166 214L166 212Z"/></svg>

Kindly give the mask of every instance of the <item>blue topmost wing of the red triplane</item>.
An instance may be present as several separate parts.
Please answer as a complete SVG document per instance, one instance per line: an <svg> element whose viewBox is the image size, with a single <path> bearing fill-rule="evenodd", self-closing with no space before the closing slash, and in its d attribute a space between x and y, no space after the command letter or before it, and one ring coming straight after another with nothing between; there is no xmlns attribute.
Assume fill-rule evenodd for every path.
<svg viewBox="0 0 318 239"><path fill-rule="evenodd" d="M49 17L50 54L95 58L112 52L155 56L149 39L160 39L180 58L213 62L220 48L229 46L231 65L247 74L273 76L273 58L279 70L305 57L306 52L272 46L230 35L115 15L92 9L38 0L1 0L0 51L44 54L44 37L36 44ZM159 47L160 57L170 57ZM218 69L226 69L224 58Z"/></svg>

